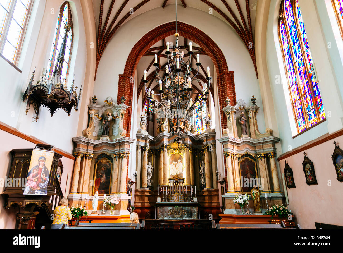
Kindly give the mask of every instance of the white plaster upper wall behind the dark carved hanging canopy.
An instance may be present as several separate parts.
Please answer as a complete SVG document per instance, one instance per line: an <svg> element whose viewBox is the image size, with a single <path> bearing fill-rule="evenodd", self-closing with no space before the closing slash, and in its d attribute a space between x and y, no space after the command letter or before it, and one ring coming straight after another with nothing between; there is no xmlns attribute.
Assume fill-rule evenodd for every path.
<svg viewBox="0 0 343 253"><path fill-rule="evenodd" d="M32 122L32 117L35 116L33 106L26 115L26 101L21 100L34 68L36 67L34 81L37 81L43 68L47 66L56 20L63 2L63 0L36 0L34 2L24 41L23 48L25 50L20 58L19 67L22 73L0 58L2 79L0 88L4 91L2 96L4 106L0 108L0 121L66 152L72 152L71 138L76 136L79 113L72 110L71 116L68 118L66 112L58 110L51 118L48 110L41 107L38 122ZM69 3L74 30L70 76L75 74L75 84L80 87L84 80L86 66L84 22L80 1L71 0ZM71 79L69 78L69 81Z"/></svg>

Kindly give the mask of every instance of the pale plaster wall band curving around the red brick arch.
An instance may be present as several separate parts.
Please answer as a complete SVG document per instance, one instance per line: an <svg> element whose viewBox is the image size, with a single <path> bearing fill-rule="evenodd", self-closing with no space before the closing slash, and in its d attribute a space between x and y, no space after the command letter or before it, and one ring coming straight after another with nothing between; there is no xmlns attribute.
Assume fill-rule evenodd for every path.
<svg viewBox="0 0 343 253"><path fill-rule="evenodd" d="M123 74L132 47L147 32L171 21L175 21L175 7L167 5L165 9L159 7L140 14L117 30L115 36L107 45L97 70L94 94L99 98L99 101L104 100L107 96L113 97L114 101L116 101L118 75ZM243 99L247 104L250 104L252 95L257 97L257 104L261 108L257 118L259 129L263 132L265 125L258 79L256 79L255 68L250 55L236 32L227 23L214 15L190 7L178 9L178 21L202 30L221 48L229 70L234 71L237 99ZM182 34L180 35L182 36ZM140 104L139 101L138 105ZM217 107L218 104L215 103L214 106ZM131 131L131 136L128 137L134 138L135 131Z"/></svg>

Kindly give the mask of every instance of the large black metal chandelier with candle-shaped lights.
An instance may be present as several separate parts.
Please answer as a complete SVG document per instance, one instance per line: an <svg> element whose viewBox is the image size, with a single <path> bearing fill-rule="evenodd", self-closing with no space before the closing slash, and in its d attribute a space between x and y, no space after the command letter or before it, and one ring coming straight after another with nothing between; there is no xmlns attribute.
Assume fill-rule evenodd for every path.
<svg viewBox="0 0 343 253"><path fill-rule="evenodd" d="M176 1L175 1L176 6ZM200 56L197 54L196 68L192 68L192 42L189 42L189 58L186 61L185 54L180 51L178 44L179 33L177 32L177 7L176 7L176 43L172 48L172 52L169 50L169 42L167 42L167 63L165 68L159 68L157 63L157 55L155 54L155 72L156 83L159 83L158 93L153 93L147 89L146 83L146 70L144 70L144 88L148 94L148 101L154 109L154 113L159 115L158 121L162 119L168 119L171 125L173 133L176 134L175 141L181 143L183 133L189 129L190 119L194 114L202 110L202 102L207 100L209 94L209 88L212 77L210 76L210 67L207 67L206 80L208 83L204 83L204 88L200 92L196 92L196 89L192 88L192 81L200 84L199 67ZM163 76L159 73L163 71ZM194 74L196 73L196 74ZM193 77L191 77L193 74ZM195 92L194 92L195 91ZM201 94L201 96L199 96ZM191 97L194 96L194 101ZM159 98L157 100L157 98Z"/></svg>

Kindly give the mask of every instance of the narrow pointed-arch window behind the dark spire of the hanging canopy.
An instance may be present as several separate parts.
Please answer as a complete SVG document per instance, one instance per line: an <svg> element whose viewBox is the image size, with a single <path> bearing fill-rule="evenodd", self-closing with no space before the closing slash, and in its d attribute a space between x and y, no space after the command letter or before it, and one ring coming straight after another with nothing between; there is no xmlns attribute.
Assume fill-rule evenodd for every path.
<svg viewBox="0 0 343 253"><path fill-rule="evenodd" d="M55 34L52 40L49 62L47 66L47 70L49 71L49 77L52 77L52 73L54 72L54 69L55 69L57 56L61 49L66 25L69 25L71 28L68 32L66 53L64 54L64 62L63 62L62 77L61 77L65 79L65 83L67 82L67 78L69 75L69 65L70 65L71 52L72 52L72 47L73 47L73 20L71 17L71 10L70 10L70 5L68 2L64 2L62 4L61 9L58 14L57 23L55 27Z"/></svg>

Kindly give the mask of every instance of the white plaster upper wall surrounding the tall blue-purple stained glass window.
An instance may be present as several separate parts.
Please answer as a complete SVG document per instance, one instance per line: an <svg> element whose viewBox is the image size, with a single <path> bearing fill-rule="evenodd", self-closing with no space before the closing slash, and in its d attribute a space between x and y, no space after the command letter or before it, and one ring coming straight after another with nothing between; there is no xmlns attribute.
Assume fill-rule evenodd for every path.
<svg viewBox="0 0 343 253"><path fill-rule="evenodd" d="M323 33L323 31L327 30L327 28L323 27L320 17L317 15L316 9L319 8L315 5L314 1L299 1L312 58L318 73L319 88L324 109L327 113L327 120L293 139L291 128L291 121L293 120L294 122L293 112L290 108L287 78L284 71L284 63L277 31L280 3L281 0L272 0L269 9L267 28L267 67L274 98L276 120L281 138L282 153L284 153L316 139L325 133L332 133L340 130L342 128L342 108L340 102L342 98L338 89L341 84L338 85L336 78L334 77L336 69L331 70L331 56L328 54L328 51L323 50L323 48L326 48L327 40L326 34ZM339 69L339 65L337 68ZM276 81L280 76L282 84L279 84Z"/></svg>

